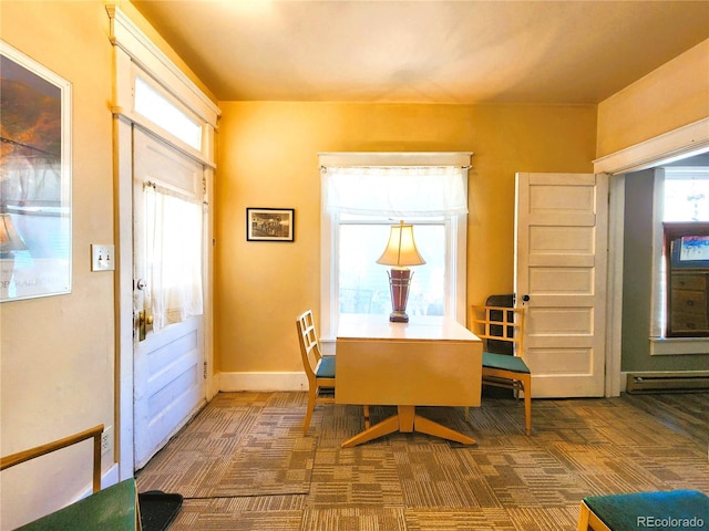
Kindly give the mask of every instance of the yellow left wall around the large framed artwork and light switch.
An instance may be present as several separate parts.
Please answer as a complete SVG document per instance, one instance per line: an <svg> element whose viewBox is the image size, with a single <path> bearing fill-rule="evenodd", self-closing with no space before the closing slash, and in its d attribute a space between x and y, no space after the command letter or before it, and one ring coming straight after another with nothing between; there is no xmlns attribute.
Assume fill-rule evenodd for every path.
<svg viewBox="0 0 709 531"><path fill-rule="evenodd" d="M114 273L90 271L91 243L114 242L105 3L0 1L2 40L70 81L73 103L72 292L0 305L2 456L116 423ZM127 1L113 3L141 21ZM91 456L91 444L82 442L2 471L0 528L13 529L90 489ZM113 461L113 452L103 457L104 472Z"/></svg>

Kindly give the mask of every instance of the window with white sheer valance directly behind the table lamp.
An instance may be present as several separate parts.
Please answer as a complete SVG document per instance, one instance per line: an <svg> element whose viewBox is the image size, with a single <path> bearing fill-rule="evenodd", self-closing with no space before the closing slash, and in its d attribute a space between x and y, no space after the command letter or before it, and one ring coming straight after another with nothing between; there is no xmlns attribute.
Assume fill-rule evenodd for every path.
<svg viewBox="0 0 709 531"><path fill-rule="evenodd" d="M341 154L339 154L341 157ZM377 154L381 156L381 154ZM465 242L470 154L455 164L397 154L388 164L337 165L321 155L321 334L337 333L341 314L391 312L388 268L376 263L400 221L414 226L423 266L412 267L407 313L465 323ZM409 155L409 157L407 157ZM338 162L340 157L338 158ZM368 159L356 154L356 163ZM399 164L390 164L391 162ZM405 164L414 163L425 164ZM374 163L381 162L374 157Z"/></svg>

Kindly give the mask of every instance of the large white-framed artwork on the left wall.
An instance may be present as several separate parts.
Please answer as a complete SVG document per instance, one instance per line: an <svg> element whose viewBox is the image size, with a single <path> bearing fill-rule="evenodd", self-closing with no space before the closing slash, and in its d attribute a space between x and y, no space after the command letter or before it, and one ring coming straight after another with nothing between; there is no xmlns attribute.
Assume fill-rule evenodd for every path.
<svg viewBox="0 0 709 531"><path fill-rule="evenodd" d="M71 83L0 41L0 302L71 292Z"/></svg>

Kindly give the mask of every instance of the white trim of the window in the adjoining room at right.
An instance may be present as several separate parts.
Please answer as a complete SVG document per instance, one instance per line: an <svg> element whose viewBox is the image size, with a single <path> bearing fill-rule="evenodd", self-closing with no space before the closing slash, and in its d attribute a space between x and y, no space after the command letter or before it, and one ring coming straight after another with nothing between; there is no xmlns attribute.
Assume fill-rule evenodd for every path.
<svg viewBox="0 0 709 531"><path fill-rule="evenodd" d="M650 355L671 356L707 354L709 337L666 337L662 314L665 312L665 258L662 246L665 229L662 210L665 202L665 168L655 169L653 191L653 299L650 303Z"/></svg>

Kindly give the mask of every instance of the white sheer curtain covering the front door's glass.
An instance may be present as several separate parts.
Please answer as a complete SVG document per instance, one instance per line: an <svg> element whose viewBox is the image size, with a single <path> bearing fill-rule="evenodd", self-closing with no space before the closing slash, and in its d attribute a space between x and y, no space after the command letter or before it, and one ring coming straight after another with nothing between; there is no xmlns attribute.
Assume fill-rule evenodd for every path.
<svg viewBox="0 0 709 531"><path fill-rule="evenodd" d="M146 183L145 254L153 330L203 313L202 202Z"/></svg>

